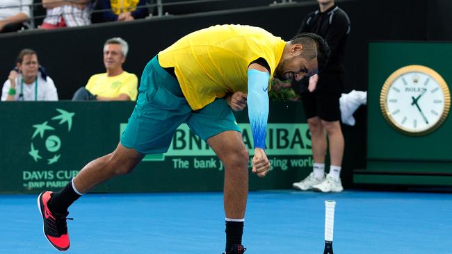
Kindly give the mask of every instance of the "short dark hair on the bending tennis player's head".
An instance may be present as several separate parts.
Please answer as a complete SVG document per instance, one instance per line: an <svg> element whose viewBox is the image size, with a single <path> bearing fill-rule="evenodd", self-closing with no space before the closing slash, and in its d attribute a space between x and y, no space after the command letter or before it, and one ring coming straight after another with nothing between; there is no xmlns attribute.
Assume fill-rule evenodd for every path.
<svg viewBox="0 0 452 254"><path fill-rule="evenodd" d="M318 71L325 68L330 58L330 47L323 38L315 33L298 33L291 40L292 44L302 44L301 56L311 60L317 58Z"/></svg>

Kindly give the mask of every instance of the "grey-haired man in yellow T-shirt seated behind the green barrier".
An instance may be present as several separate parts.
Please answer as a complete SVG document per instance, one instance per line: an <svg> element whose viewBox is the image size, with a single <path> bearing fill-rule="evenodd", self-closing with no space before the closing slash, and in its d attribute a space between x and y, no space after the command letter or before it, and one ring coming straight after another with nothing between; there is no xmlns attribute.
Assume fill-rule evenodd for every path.
<svg viewBox="0 0 452 254"><path fill-rule="evenodd" d="M136 101L138 78L122 69L129 45L120 37L108 39L104 44L106 73L91 76L86 87L81 87L73 101Z"/></svg>

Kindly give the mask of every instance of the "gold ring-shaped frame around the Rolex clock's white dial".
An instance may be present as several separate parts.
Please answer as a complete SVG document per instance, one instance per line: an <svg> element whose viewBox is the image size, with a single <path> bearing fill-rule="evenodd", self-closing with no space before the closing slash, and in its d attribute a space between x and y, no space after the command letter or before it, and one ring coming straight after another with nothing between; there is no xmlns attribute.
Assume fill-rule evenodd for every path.
<svg viewBox="0 0 452 254"><path fill-rule="evenodd" d="M435 79L435 81L437 81L444 94L444 110L442 112L441 117L439 117L439 120L436 122L435 125L431 126L427 130L422 130L419 132L414 132L401 126L400 124L397 124L396 121L392 118L391 113L389 112L387 107L387 93L389 91L389 87L392 85L392 83L394 83L394 81L396 81L396 78L409 72L422 72L432 77L433 79ZM392 128L396 129L398 132L401 132L405 135L422 136L432 133L437 128L439 128L439 126L441 126L444 123L444 121L446 121L450 108L451 108L451 94L449 92L449 87L447 86L446 81L444 81L444 78L442 78L442 76L439 75L435 70L423 65L407 65L405 67L397 69L387 78L380 92L380 110L382 112L383 117L388 122L388 124L392 126Z"/></svg>

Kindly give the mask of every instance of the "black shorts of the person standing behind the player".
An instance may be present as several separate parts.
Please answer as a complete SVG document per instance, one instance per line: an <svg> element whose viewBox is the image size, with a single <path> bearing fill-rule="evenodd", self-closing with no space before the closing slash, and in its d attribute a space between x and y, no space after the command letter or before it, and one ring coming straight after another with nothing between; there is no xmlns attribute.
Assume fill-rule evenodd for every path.
<svg viewBox="0 0 452 254"><path fill-rule="evenodd" d="M339 121L342 82L340 75L319 76L316 90L301 93L306 118L320 117L323 121Z"/></svg>

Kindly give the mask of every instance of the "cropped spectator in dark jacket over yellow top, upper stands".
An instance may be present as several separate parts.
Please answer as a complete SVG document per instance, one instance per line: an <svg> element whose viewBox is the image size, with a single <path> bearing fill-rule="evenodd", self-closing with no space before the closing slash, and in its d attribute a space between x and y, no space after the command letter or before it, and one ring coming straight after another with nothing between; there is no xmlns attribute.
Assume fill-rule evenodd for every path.
<svg viewBox="0 0 452 254"><path fill-rule="evenodd" d="M129 21L144 18L147 16L147 9L140 8L140 6L145 5L145 0L99 0L97 2L97 6L101 10L105 10L102 12L104 22Z"/></svg>

